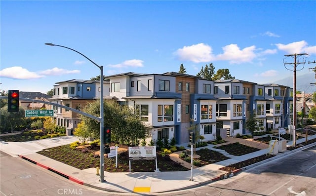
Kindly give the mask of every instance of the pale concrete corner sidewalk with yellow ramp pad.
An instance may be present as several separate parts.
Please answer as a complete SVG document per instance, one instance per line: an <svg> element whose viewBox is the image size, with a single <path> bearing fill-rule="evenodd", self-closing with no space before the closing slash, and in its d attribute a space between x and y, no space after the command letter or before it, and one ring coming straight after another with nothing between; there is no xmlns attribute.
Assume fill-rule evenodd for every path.
<svg viewBox="0 0 316 196"><path fill-rule="evenodd" d="M310 136L308 139L314 139L316 135ZM234 138L235 139L235 138ZM269 149L262 149L260 151L250 153L243 156L228 155L230 159L209 164L203 167L194 168L192 170L193 181L190 181L191 170L179 172L125 172L125 173L110 173L104 172L105 182L99 182L100 176L96 175L95 168L80 170L67 164L55 161L51 158L44 157L36 152L42 149L51 148L70 144L79 139L74 136L64 136L58 138L49 138L43 140L36 140L30 142L3 142L0 143L0 150L11 156L19 156L29 160L45 169L59 173L60 175L72 180L81 185L92 187L99 190L119 193L162 193L176 190L184 190L193 188L202 184L210 183L223 179L227 176L226 171L219 170L219 168L246 160L252 157L258 157L269 153ZM301 141L302 140L302 141ZM249 144L249 141L246 141ZM305 142L305 138L297 140L297 144ZM205 148L205 147L203 147ZM208 146L212 148L212 146ZM214 150L214 149L212 149ZM294 150L296 151L296 150ZM275 159L285 156L293 151L278 153L276 157L267 160ZM177 156L173 156L177 157ZM262 164L261 161L258 164ZM159 160L158 160L159 161ZM183 162L183 161L182 161ZM257 164L256 164L257 165ZM253 165L251 165L253 166ZM243 169L249 168L245 167ZM235 170L236 175L243 169Z"/></svg>

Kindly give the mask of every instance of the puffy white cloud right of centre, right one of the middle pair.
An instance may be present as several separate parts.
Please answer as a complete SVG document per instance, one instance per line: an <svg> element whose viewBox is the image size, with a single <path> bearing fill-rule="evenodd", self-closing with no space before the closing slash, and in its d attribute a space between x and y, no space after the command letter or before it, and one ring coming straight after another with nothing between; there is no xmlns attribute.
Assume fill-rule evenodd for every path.
<svg viewBox="0 0 316 196"><path fill-rule="evenodd" d="M230 64L251 62L256 57L256 54L254 53L256 46L254 45L245 47L242 50L240 50L237 44L226 45L222 48L224 53L217 55L217 59L228 60L230 61Z"/></svg>

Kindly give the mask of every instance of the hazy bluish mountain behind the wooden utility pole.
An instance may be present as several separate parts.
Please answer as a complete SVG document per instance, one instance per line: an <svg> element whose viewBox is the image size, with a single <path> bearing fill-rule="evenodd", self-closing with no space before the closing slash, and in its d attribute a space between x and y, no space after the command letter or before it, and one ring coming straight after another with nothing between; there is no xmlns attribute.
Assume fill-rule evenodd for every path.
<svg viewBox="0 0 316 196"><path fill-rule="evenodd" d="M275 84L280 84L284 86L290 86L293 88L293 77L287 77L284 79L277 80L273 82ZM314 84L311 84L314 83ZM316 92L316 78L315 74L305 74L301 76L296 75L296 91L301 91L306 93Z"/></svg>

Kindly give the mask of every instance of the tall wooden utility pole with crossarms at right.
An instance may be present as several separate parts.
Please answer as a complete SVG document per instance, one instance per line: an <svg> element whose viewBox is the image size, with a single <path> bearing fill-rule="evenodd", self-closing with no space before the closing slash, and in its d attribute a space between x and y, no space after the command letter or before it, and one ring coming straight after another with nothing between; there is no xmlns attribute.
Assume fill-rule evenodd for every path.
<svg viewBox="0 0 316 196"><path fill-rule="evenodd" d="M293 135L292 136L293 136L293 147L294 148L296 147L296 71L303 70L304 65L305 65L305 60L303 60L303 62L300 63L297 60L297 57L302 56L302 55L308 55L308 54L307 53L301 53L301 54L295 53L295 54L284 55L286 57L288 57L288 56L293 57L294 63L286 63L286 61L284 62L284 60L283 60L283 64L284 64L285 69L287 69L286 65L293 65L293 70L291 70L291 69L287 69L287 70L293 71ZM296 68L299 64L303 64L303 68L300 70L296 70Z"/></svg>

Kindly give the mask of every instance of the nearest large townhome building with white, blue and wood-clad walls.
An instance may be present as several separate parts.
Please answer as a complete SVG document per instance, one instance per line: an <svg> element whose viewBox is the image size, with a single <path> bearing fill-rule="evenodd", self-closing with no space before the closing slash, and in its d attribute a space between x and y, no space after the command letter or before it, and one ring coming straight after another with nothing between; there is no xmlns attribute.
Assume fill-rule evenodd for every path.
<svg viewBox="0 0 316 196"><path fill-rule="evenodd" d="M175 72L165 74L124 73L110 79L110 98L133 108L153 139L189 141L190 120L200 135L213 140L216 131L214 83Z"/></svg>

